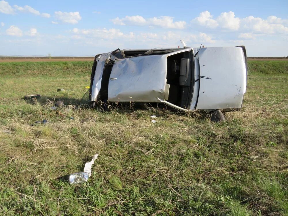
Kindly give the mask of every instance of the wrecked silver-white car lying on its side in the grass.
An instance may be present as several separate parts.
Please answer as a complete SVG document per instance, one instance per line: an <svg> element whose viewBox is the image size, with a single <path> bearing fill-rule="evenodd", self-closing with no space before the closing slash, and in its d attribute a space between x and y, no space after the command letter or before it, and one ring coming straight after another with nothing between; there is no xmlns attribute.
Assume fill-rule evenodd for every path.
<svg viewBox="0 0 288 216"><path fill-rule="evenodd" d="M103 101L240 110L246 81L244 46L117 49L95 56L90 100L93 106Z"/></svg>

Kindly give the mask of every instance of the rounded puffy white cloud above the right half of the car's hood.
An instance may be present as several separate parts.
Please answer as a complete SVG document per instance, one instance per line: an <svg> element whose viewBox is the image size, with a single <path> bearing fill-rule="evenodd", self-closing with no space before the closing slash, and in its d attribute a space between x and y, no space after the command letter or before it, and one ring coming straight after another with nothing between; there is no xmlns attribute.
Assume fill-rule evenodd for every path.
<svg viewBox="0 0 288 216"><path fill-rule="evenodd" d="M225 29L238 30L240 27L240 18L235 17L234 12L223 12L216 18L219 26Z"/></svg>

